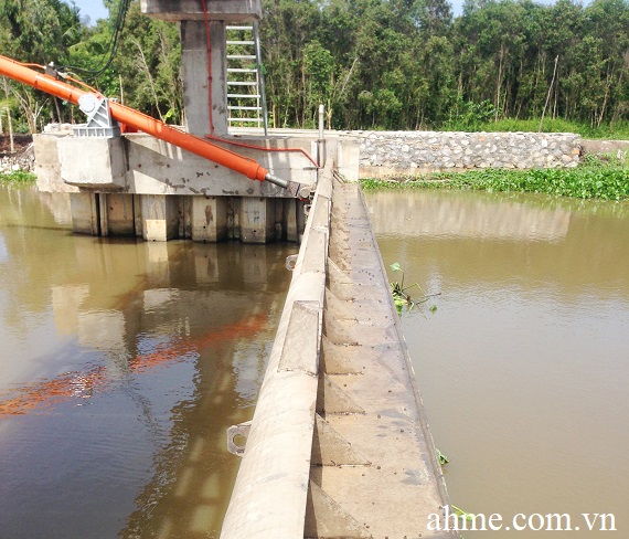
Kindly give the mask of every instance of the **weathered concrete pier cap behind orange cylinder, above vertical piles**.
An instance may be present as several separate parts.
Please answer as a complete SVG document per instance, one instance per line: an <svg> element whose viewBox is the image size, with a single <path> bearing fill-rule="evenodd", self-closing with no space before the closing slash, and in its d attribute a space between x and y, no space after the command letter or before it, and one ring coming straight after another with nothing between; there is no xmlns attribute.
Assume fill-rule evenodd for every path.
<svg viewBox="0 0 629 539"><path fill-rule="evenodd" d="M77 192L76 186L71 182L76 176L71 172L72 167L78 167L83 173L89 170L92 181L98 182L99 190L120 189L124 192L137 194L203 194L233 195L233 197L290 197L284 189L269 182L253 181L238 172L234 172L221 165L182 150L168 142L145 134L125 135L118 142L107 142L113 139L89 138L87 141L98 146L104 152L109 145L124 145L124 155L115 169L103 154L92 159L92 154L85 152L86 139L81 137L60 137L52 134L40 134L34 137L38 188L51 192ZM274 137L263 139L232 138L237 142L260 146L267 149L302 148L313 154L316 146L311 138ZM275 176L290 181L314 184L317 170L314 165L300 152L266 151L252 148L241 148L226 142L216 142L218 146L237 151L244 157L255 159ZM63 147L63 155L60 148ZM81 156L81 159L77 159ZM63 161L62 161L63 159ZM70 160L65 163L65 160ZM77 161L86 161L81 165ZM58 168L57 168L58 167ZM119 169L124 168L124 180L120 180ZM57 176L58 175L58 176ZM60 181L60 176L61 180ZM86 184L90 181L86 178ZM97 179L97 180L96 180ZM77 183L78 184L78 183Z"/></svg>

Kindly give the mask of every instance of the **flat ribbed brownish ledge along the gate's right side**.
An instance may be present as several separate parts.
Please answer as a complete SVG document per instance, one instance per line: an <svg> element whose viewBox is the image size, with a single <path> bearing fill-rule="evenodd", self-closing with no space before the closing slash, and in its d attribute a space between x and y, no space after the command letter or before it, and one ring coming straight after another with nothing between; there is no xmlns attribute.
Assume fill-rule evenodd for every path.
<svg viewBox="0 0 629 539"><path fill-rule="evenodd" d="M311 480L372 537L457 537L428 529L448 496L360 187L338 182L332 200L322 393L335 385L351 404L321 414L371 464L314 467Z"/></svg>

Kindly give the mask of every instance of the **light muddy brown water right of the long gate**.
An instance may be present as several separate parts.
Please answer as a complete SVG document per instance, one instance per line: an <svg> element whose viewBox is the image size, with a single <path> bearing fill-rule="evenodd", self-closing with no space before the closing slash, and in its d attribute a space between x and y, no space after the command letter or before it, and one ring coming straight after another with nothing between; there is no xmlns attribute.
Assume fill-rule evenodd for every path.
<svg viewBox="0 0 629 539"><path fill-rule="evenodd" d="M595 514L611 514L614 537L629 537L629 204L447 191L366 201L385 265L440 294L402 314L404 335L450 458L451 503L502 517L501 530L462 536L600 537ZM554 514L572 531L546 530Z"/></svg>

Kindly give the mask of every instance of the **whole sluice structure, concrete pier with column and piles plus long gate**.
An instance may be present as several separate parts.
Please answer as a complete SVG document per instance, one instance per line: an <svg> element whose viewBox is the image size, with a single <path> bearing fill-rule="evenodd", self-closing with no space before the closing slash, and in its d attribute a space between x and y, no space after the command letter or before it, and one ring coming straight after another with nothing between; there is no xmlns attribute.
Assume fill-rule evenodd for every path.
<svg viewBox="0 0 629 539"><path fill-rule="evenodd" d="M179 21L188 133L203 138L210 125L221 152L233 141L273 149L236 151L276 180L314 191L308 204L274 183L250 181L173 146L177 129L166 125L157 131L170 138L159 140L117 130L85 136L83 128L35 139L38 187L70 193L75 232L157 242L302 240L287 261L292 279L254 419L227 433L243 461L221 537L457 537L430 529L449 504L440 465L360 187L332 172L334 162L358 179L356 140L323 141L322 128L319 137L230 137L226 21L259 19L259 1L209 2L205 13L193 1L141 7ZM285 151L296 147L319 165L326 147L328 167Z"/></svg>

